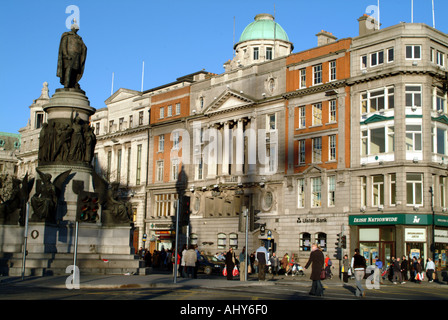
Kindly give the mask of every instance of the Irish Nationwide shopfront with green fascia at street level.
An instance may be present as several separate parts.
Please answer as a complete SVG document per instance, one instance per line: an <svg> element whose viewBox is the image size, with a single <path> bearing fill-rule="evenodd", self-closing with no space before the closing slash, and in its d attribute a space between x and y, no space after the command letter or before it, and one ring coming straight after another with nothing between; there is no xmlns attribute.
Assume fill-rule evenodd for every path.
<svg viewBox="0 0 448 320"><path fill-rule="evenodd" d="M446 267L448 217L424 214L353 215L349 217L350 247L359 248L368 264L379 257L386 265L392 257L432 257L434 232L436 264Z"/></svg>

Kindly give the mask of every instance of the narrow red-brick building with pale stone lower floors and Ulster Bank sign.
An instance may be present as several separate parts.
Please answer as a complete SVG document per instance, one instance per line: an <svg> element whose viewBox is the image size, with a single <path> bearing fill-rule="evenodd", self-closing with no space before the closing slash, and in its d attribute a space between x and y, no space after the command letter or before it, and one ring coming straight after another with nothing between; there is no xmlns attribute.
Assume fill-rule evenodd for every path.
<svg viewBox="0 0 448 320"><path fill-rule="evenodd" d="M318 46L287 57L288 110L283 232L288 252L306 259L311 244L333 256L347 226L350 168L350 44L326 31Z"/></svg>

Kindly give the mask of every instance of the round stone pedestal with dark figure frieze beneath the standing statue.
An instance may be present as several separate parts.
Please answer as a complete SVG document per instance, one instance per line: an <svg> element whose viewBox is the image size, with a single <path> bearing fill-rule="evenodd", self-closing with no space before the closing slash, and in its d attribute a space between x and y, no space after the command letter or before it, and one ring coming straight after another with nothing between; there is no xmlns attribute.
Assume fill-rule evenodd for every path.
<svg viewBox="0 0 448 320"><path fill-rule="evenodd" d="M89 124L95 109L90 106L84 91L66 88L57 89L43 109L47 112L48 129L41 134L40 139L48 141L44 141L47 145L41 144L42 148L39 148L39 174L36 176L35 194L31 194L31 203L33 196L39 196L39 177L42 180L43 175L49 174L58 204L57 212L53 215L55 219L45 221L39 219L42 214L36 214L38 205L31 206L29 234L34 234L34 237L29 237L27 250L32 253L73 253L78 194L81 191L94 193L98 188L94 185L91 165L96 139L90 136L92 128ZM61 138L64 134L65 138ZM65 180L59 186L56 185L57 177L64 173ZM42 188L41 185L39 187ZM99 210L96 222L79 223L78 253L131 254L130 223L104 226L101 214Z"/></svg>

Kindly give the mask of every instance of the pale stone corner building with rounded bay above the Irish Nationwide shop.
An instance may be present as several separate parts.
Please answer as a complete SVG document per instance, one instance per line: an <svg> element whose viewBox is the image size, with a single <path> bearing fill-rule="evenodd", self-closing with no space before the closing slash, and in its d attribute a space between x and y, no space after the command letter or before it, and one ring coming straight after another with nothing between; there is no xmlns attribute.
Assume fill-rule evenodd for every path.
<svg viewBox="0 0 448 320"><path fill-rule="evenodd" d="M351 246L369 262L426 259L435 240L445 265L448 37L417 23L369 29L366 20L350 48Z"/></svg>

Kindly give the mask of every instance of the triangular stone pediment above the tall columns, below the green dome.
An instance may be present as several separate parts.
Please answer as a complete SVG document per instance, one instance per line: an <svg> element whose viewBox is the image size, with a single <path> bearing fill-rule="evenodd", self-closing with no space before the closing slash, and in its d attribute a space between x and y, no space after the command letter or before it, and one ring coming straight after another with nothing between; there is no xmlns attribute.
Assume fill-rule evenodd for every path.
<svg viewBox="0 0 448 320"><path fill-rule="evenodd" d="M204 110L204 114L214 114L222 112L230 112L237 109L247 108L255 104L250 97L233 91L226 90Z"/></svg>

